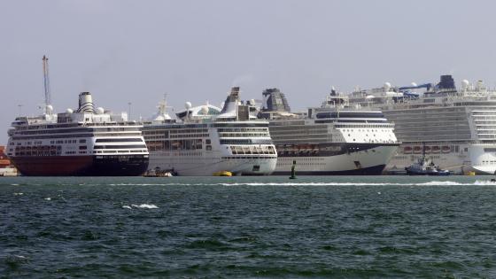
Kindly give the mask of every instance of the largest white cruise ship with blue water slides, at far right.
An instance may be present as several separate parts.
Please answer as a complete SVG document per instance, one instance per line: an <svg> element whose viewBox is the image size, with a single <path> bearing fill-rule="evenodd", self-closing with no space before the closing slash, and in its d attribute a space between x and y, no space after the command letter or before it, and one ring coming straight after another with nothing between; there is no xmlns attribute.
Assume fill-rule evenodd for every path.
<svg viewBox="0 0 496 279"><path fill-rule="evenodd" d="M422 91L422 92L421 92ZM462 81L451 75L437 84L424 83L356 90L351 102L379 108L395 123L401 145L386 170L404 169L425 154L454 174L496 171L496 91L483 81Z"/></svg>

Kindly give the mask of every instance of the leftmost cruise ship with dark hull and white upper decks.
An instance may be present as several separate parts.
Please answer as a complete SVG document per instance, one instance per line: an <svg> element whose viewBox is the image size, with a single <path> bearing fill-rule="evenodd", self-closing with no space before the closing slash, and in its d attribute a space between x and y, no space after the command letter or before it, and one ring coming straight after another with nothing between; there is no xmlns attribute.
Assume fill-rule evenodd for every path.
<svg viewBox="0 0 496 279"><path fill-rule="evenodd" d="M54 113L46 103L41 116L17 117L6 154L22 175L140 175L149 159L141 128L125 112L95 108L83 92L75 111Z"/></svg>

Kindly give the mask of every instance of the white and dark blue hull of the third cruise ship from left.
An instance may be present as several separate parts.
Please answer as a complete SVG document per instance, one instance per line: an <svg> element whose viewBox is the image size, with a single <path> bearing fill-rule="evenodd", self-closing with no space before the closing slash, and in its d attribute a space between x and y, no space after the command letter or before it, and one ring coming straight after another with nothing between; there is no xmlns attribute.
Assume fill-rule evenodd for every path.
<svg viewBox="0 0 496 279"><path fill-rule="evenodd" d="M379 175L397 148L397 144L369 145L360 151L334 156L279 157L274 174L291 174L293 161L296 161L297 175Z"/></svg>

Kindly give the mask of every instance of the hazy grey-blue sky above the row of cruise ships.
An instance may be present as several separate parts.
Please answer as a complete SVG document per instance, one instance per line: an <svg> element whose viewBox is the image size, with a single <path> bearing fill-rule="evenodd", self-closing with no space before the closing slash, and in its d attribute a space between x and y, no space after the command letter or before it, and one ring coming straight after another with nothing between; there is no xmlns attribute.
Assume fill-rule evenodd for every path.
<svg viewBox="0 0 496 279"><path fill-rule="evenodd" d="M494 1L0 0L0 143L19 114L43 104L43 54L52 103L150 117L167 92L182 109L283 90L293 110L350 91L440 74L496 84ZM172 113L171 113L172 114Z"/></svg>

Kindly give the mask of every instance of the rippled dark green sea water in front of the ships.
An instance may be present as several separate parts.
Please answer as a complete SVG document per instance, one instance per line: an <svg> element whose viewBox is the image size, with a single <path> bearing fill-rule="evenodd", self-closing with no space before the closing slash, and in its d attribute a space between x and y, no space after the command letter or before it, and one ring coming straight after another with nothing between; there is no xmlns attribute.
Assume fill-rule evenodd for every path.
<svg viewBox="0 0 496 279"><path fill-rule="evenodd" d="M0 277L496 277L490 178L1 178Z"/></svg>

